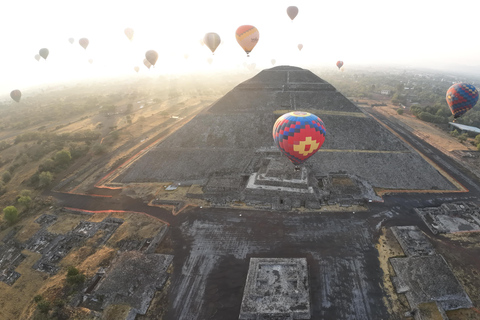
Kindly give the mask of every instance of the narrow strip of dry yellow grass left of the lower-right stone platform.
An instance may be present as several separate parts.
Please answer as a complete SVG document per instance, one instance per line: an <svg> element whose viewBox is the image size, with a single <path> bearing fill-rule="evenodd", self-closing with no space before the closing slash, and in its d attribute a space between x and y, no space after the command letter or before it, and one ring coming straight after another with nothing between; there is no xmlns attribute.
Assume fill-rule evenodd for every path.
<svg viewBox="0 0 480 320"><path fill-rule="evenodd" d="M395 276L395 271L390 264L389 259L405 256L400 244L395 239L392 231L382 228L382 234L375 245L378 251L380 268L383 270L382 286L385 290L383 302L388 308L389 313L393 315L404 314L410 310L407 299L404 295L397 295L393 286L391 277Z"/></svg>

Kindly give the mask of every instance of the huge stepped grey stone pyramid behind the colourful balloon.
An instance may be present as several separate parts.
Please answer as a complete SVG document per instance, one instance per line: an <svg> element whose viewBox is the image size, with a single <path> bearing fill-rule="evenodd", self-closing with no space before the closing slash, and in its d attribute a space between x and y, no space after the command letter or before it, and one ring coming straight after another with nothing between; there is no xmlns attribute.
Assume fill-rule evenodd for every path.
<svg viewBox="0 0 480 320"><path fill-rule="evenodd" d="M322 148L298 173L272 139L276 119L290 111L319 116L327 132ZM342 179L349 182L335 191ZM269 198L269 188L276 188L285 193L280 197L303 190L308 200L300 202L320 203L335 193L345 194L345 186L357 191L455 190L412 147L335 87L309 70L290 66L263 70L240 83L115 180L167 181L200 184L217 199L244 200L252 190L255 199ZM370 196L371 190L366 192ZM369 197L357 191L352 192Z"/></svg>

